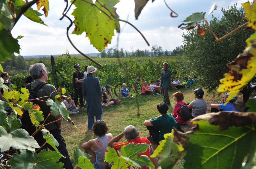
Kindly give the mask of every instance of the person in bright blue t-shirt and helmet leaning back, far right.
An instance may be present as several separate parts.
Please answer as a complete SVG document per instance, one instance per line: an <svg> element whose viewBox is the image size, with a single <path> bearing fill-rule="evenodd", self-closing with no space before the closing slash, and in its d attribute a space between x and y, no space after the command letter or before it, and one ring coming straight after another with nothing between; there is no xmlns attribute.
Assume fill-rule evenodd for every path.
<svg viewBox="0 0 256 169"><path fill-rule="evenodd" d="M225 96L222 96L222 104L211 104L211 112L219 112L219 111L238 111L238 109L236 108L235 105L235 101L237 100L237 96L235 96L234 98L232 98L229 103L227 103L226 105L226 99L229 97L229 93L225 93Z"/></svg>

